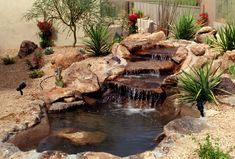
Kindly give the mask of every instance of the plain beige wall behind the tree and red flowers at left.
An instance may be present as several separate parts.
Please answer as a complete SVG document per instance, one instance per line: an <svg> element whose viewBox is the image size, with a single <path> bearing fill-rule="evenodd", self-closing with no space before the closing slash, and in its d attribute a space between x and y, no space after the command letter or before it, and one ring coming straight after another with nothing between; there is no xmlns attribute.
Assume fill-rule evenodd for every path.
<svg viewBox="0 0 235 159"><path fill-rule="evenodd" d="M7 48L19 48L23 40L38 43L36 21L26 22L22 19L30 9L33 0L0 0L0 51ZM81 32L80 35L82 36ZM78 37L78 39L80 39ZM56 45L71 45L72 37L67 33L58 33Z"/></svg>

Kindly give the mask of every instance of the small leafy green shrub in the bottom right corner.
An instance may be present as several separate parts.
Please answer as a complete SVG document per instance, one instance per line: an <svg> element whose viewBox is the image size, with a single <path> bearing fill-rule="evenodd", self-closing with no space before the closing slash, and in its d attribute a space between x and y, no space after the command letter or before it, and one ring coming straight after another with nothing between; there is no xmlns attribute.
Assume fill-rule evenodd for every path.
<svg viewBox="0 0 235 159"><path fill-rule="evenodd" d="M196 150L200 159L232 159L230 151L224 152L218 143L213 144L209 135L204 140L203 143L198 143L199 149Z"/></svg>

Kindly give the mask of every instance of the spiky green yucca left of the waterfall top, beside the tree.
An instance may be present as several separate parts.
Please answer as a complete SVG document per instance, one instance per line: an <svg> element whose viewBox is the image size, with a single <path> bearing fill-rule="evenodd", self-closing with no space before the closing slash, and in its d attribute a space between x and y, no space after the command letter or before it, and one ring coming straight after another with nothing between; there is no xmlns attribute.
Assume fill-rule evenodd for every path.
<svg viewBox="0 0 235 159"><path fill-rule="evenodd" d="M108 27L100 24L90 25L86 27L85 33L89 37L88 40L84 40L88 53L94 56L104 56L110 53L112 40L109 38Z"/></svg>

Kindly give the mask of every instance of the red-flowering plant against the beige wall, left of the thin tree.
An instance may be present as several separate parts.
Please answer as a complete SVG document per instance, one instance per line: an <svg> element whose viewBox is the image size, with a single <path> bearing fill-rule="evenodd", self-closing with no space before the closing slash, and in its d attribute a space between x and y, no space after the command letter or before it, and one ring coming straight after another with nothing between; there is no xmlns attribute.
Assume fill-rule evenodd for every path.
<svg viewBox="0 0 235 159"><path fill-rule="evenodd" d="M42 48L51 47L52 41L52 22L43 20L37 21L37 26L40 30L39 37L41 38L40 46Z"/></svg>

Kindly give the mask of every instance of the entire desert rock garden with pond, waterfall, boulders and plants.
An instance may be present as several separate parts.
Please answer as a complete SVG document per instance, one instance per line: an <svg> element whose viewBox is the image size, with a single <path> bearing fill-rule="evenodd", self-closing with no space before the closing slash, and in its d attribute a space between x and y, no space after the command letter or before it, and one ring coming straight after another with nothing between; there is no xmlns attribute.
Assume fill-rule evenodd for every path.
<svg viewBox="0 0 235 159"><path fill-rule="evenodd" d="M44 19L39 45L1 53L0 158L235 157L235 26L184 14L140 33L139 16L121 39L95 23L73 47L55 46Z"/></svg>

